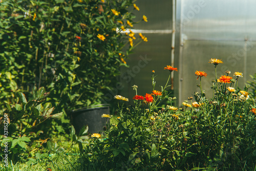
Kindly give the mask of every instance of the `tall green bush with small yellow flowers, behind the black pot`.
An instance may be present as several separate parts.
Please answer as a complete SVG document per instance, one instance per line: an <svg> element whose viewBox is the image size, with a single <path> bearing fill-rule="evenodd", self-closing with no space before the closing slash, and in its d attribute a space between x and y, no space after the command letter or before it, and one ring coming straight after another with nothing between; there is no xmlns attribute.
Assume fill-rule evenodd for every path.
<svg viewBox="0 0 256 171"><path fill-rule="evenodd" d="M0 73L10 72L22 91L45 87L59 111L104 102L126 56L147 41L141 35L133 42L127 30L143 20L134 21L136 8L131 0L4 1Z"/></svg>

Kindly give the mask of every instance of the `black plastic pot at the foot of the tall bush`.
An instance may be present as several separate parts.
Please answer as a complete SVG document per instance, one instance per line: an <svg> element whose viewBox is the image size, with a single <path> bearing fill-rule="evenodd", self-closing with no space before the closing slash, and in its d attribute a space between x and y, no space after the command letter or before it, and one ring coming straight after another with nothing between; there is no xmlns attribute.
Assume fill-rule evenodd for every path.
<svg viewBox="0 0 256 171"><path fill-rule="evenodd" d="M72 125L75 127L76 133L79 133L84 125L88 125L89 133L103 131L103 127L106 126L106 121L109 119L101 118L102 114L110 114L109 106L72 111Z"/></svg>

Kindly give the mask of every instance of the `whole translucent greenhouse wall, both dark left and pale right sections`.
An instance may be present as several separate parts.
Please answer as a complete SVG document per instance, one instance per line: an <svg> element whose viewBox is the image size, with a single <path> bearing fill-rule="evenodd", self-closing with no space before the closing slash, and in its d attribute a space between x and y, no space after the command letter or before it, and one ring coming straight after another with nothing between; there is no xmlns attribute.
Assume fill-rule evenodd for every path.
<svg viewBox="0 0 256 171"><path fill-rule="evenodd" d="M131 88L134 84L139 87L138 94L151 93L152 70L158 75L156 90L165 84L168 72L163 68L171 65L173 32L173 1L138 0L135 3L140 8L136 11L138 20L146 15L148 22L134 26L138 32L144 33L148 42L142 42L129 55L127 63L130 68L121 68L122 87L119 92L130 99L135 93ZM239 79L241 88L250 79L249 75L256 73L255 9L255 0L176 1L174 67L179 71L174 74L173 91L179 104L200 91L196 70L207 72L202 84L206 97L212 97L210 86L211 80L215 79L215 69L208 63L210 58L224 62L217 66L218 77L226 75L227 70L231 74L242 72L244 77Z"/></svg>

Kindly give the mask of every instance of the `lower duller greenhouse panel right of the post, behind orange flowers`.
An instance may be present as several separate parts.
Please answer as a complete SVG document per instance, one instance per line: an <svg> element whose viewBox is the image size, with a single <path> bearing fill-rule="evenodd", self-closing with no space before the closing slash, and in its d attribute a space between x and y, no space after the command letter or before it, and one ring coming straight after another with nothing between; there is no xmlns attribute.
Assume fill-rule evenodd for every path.
<svg viewBox="0 0 256 171"><path fill-rule="evenodd" d="M249 75L256 73L256 49L253 48L255 46L255 42L244 41L186 41L182 47L182 63L179 68L181 102L195 92L200 92L200 88L197 87L197 84L200 84L200 78L197 80L196 70L208 74L207 77L202 77L202 89L205 90L207 98L212 97L211 81L216 77L214 65L208 63L210 58L223 61L217 66L217 78L226 75L226 71L231 71L229 76L233 76L234 72L242 72L243 78L239 78L238 84L243 89L246 81L250 79Z"/></svg>

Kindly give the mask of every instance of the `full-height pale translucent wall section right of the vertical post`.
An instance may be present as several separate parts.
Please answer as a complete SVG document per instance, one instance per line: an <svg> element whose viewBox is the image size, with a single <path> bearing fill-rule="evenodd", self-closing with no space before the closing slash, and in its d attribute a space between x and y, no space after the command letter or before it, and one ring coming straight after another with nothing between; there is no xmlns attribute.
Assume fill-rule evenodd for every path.
<svg viewBox="0 0 256 171"><path fill-rule="evenodd" d="M226 75L227 70L231 74L242 72L244 77L239 79L239 86L244 88L249 75L256 73L256 1L181 0L177 4L179 101L200 91L196 70L207 72L202 84L206 96L212 97L210 86L215 69L208 63L210 58L224 62L217 66L218 77Z"/></svg>

